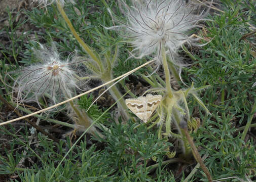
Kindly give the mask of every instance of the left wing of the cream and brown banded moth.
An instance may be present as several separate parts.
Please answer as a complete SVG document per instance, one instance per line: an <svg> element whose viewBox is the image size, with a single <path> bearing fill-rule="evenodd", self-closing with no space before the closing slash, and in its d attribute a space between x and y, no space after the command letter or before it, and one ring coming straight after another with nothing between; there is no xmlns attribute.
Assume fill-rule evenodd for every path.
<svg viewBox="0 0 256 182"><path fill-rule="evenodd" d="M126 106L142 121L144 121L144 102L138 99L126 99Z"/></svg>

